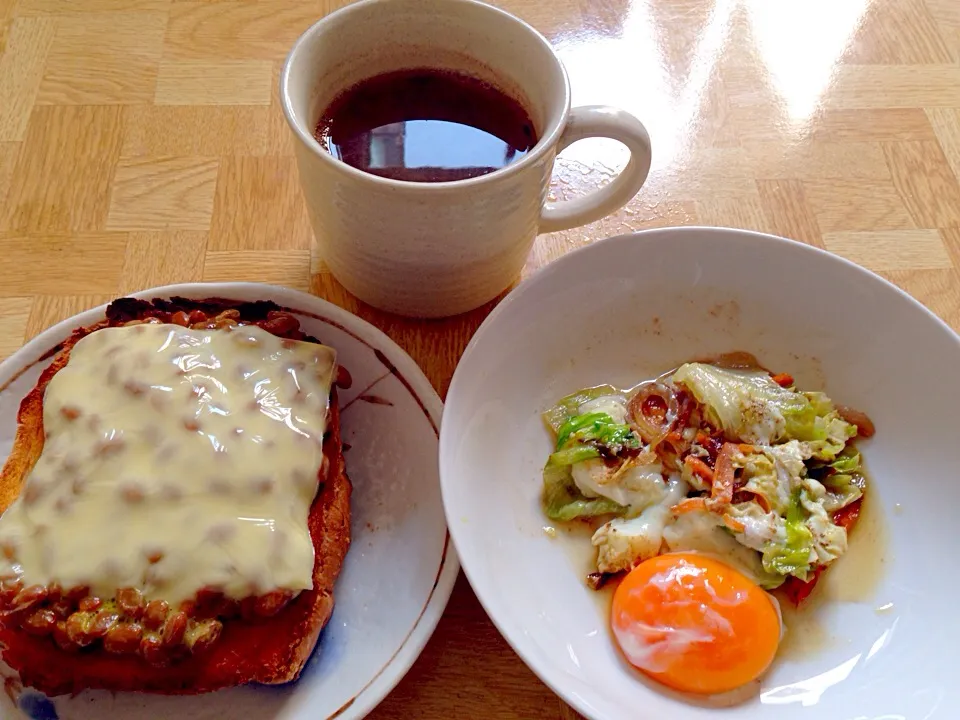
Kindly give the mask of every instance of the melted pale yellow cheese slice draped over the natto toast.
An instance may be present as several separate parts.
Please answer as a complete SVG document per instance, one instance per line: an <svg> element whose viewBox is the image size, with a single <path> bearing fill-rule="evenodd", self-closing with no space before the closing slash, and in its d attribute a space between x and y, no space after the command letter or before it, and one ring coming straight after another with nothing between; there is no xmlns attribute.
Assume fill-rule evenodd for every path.
<svg viewBox="0 0 960 720"><path fill-rule="evenodd" d="M255 326L106 328L50 380L0 575L175 604L312 586L332 349Z"/></svg>

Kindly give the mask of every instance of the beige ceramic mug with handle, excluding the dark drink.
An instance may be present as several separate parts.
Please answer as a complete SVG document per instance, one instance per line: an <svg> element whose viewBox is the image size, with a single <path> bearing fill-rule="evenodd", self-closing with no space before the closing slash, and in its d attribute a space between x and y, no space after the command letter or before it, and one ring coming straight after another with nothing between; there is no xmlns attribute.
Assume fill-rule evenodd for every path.
<svg viewBox="0 0 960 720"><path fill-rule="evenodd" d="M539 142L494 172L429 183L363 172L315 139L320 114L343 91L418 67L465 72L511 95ZM518 278L538 232L613 212L650 170L639 120L611 107L571 110L567 73L546 38L475 0L361 0L337 10L291 49L280 97L321 256L357 298L401 315L455 315L492 300ZM626 168L582 197L546 202L557 153L587 137L626 145Z"/></svg>

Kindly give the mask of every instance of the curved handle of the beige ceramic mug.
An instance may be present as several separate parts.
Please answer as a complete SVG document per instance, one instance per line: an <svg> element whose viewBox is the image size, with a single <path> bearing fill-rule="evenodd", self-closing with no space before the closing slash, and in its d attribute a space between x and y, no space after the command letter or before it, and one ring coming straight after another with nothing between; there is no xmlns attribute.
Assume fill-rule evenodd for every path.
<svg viewBox="0 0 960 720"><path fill-rule="evenodd" d="M568 230L599 220L626 205L647 179L652 157L650 136L633 115L606 105L574 108L557 143L557 154L588 137L622 142L630 150L630 162L609 185L573 200L546 203L540 212L539 232Z"/></svg>

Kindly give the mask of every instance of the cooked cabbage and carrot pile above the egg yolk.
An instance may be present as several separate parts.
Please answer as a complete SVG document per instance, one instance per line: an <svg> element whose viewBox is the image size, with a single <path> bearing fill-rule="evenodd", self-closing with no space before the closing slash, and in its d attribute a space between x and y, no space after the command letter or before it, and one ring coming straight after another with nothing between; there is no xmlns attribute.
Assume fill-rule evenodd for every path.
<svg viewBox="0 0 960 720"><path fill-rule="evenodd" d="M865 479L850 443L857 427L827 395L781 387L763 370L696 362L663 382L699 405L692 416L689 408L671 416L675 439L655 449L643 447L626 395L610 385L568 395L543 414L556 438L543 469L544 511L552 520L607 520L592 540L601 572L686 550L716 555L769 589L790 575L806 581L846 551L846 530L831 514L862 497ZM742 443L732 478L729 465L714 467L715 428ZM680 474L665 479L674 462ZM691 490L711 492L711 477L728 494L713 488L705 504L697 505L701 494L675 516Z"/></svg>

